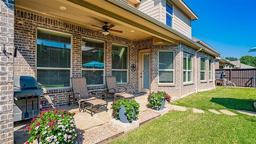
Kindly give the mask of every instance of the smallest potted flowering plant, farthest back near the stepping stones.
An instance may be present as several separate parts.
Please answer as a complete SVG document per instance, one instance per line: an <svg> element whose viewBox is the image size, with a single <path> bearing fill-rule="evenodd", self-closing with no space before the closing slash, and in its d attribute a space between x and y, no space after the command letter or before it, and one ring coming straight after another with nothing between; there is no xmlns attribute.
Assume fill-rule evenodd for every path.
<svg viewBox="0 0 256 144"><path fill-rule="evenodd" d="M166 92L157 91L148 95L148 104L151 105L155 110L163 110L165 100L167 100L167 102L171 101L170 95L168 95Z"/></svg>

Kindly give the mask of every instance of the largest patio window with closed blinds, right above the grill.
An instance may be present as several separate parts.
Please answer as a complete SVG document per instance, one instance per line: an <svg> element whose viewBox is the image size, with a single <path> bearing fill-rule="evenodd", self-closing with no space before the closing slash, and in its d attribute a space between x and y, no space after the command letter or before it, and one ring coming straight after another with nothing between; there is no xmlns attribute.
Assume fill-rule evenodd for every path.
<svg viewBox="0 0 256 144"><path fill-rule="evenodd" d="M42 87L70 86L71 36L37 30L36 77Z"/></svg>

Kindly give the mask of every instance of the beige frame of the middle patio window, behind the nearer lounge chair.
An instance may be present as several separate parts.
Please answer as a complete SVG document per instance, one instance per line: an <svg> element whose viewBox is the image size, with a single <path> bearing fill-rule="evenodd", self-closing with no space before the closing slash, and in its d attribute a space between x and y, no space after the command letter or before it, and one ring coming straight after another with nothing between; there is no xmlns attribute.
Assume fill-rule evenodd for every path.
<svg viewBox="0 0 256 144"><path fill-rule="evenodd" d="M95 68L83 68L82 67L82 45L83 45L83 39L91 39L92 41L98 41L98 42L103 42L104 43L104 68L103 69L95 69ZM95 38L90 38L90 37L84 37L82 36L82 40L81 40L81 76L82 76L82 71L83 70L103 70L103 84L94 84L94 85L87 85L89 87L93 87L93 86L103 86L105 85L106 83L106 80L105 80L105 76L106 76L106 42L105 41L102 41L100 39L95 39Z"/></svg>

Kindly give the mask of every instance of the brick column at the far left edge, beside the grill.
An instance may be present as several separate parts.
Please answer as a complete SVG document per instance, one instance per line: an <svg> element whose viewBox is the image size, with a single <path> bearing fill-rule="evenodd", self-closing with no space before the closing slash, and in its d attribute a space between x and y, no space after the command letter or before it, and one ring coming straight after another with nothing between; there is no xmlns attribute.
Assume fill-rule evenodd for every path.
<svg viewBox="0 0 256 144"><path fill-rule="evenodd" d="M13 143L13 53L14 1L0 0L0 143Z"/></svg>

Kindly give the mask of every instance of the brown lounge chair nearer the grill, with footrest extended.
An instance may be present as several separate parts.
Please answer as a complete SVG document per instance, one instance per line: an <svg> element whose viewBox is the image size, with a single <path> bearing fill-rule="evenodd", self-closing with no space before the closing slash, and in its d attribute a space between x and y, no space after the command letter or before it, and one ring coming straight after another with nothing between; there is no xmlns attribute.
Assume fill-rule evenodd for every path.
<svg viewBox="0 0 256 144"><path fill-rule="evenodd" d="M73 94L69 94L69 106L70 106L70 100L73 99L76 102L78 102L79 105L79 111L81 111L81 104L83 106L83 112L84 109L91 111L91 116L93 116L93 109L94 108L101 108L106 111L108 111L107 106L108 102L105 100L97 99L95 97L90 97L87 84L86 84L86 78L85 77L72 77L72 91ZM89 105L88 107L84 107L84 105Z"/></svg>

